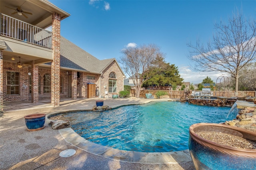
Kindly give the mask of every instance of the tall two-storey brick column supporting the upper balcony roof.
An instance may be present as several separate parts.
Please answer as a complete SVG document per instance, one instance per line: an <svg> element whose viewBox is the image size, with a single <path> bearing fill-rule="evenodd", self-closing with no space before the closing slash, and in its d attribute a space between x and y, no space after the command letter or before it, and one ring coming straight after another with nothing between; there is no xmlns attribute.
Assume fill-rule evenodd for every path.
<svg viewBox="0 0 256 170"><path fill-rule="evenodd" d="M60 105L60 14L52 14L52 106Z"/></svg>

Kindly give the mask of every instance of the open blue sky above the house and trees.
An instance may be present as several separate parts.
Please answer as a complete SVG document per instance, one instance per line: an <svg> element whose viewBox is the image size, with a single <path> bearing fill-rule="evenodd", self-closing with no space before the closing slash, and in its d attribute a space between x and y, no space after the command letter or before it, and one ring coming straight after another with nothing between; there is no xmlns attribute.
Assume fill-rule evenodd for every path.
<svg viewBox="0 0 256 170"><path fill-rule="evenodd" d="M227 21L242 7L246 18L256 18L255 0L50 0L71 14L61 22L61 35L98 59L116 58L127 45L158 45L181 77L200 83L217 73L193 72L188 67L188 42L212 39L214 23Z"/></svg>

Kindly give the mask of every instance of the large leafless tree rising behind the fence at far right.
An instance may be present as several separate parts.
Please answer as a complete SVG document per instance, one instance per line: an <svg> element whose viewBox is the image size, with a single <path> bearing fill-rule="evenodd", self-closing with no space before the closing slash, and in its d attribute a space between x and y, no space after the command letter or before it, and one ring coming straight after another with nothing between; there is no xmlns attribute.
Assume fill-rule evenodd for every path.
<svg viewBox="0 0 256 170"><path fill-rule="evenodd" d="M237 12L227 24L214 25L216 34L206 45L196 42L188 58L195 61L194 71L220 71L235 78L235 94L238 92L239 71L256 61L256 21L246 20Z"/></svg>

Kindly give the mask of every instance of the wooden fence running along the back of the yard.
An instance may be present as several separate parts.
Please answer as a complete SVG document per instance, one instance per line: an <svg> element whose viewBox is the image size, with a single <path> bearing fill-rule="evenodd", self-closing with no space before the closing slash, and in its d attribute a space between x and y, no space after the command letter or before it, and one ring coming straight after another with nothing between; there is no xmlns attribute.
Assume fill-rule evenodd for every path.
<svg viewBox="0 0 256 170"><path fill-rule="evenodd" d="M140 97L146 98L146 93L151 93L152 95L155 95L155 93L159 90L141 90L140 91ZM168 96L172 99L180 99L181 97L185 97L183 90L160 90L160 91L166 91ZM194 91L193 93L200 93L202 91ZM222 97L235 97L234 91L211 91L213 96L222 96ZM190 90L190 95L192 94L192 90ZM131 97L136 97L136 91L134 89L131 89L130 93ZM238 91L238 96L256 96L256 91Z"/></svg>

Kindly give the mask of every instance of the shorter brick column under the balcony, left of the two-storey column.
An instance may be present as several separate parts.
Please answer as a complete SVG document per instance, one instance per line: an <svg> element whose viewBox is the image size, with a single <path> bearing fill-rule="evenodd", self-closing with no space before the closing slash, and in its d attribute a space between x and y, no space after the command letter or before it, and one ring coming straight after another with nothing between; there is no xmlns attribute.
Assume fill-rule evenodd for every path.
<svg viewBox="0 0 256 170"><path fill-rule="evenodd" d="M32 86L31 86L31 102L38 103L38 65L34 65L32 61Z"/></svg>

